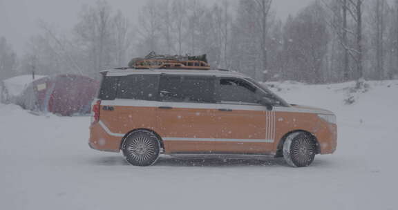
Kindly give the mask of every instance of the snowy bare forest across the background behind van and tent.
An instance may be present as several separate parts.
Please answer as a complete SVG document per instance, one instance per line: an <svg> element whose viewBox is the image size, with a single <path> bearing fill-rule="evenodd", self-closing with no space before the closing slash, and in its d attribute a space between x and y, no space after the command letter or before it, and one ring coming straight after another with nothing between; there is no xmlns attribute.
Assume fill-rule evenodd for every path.
<svg viewBox="0 0 398 210"><path fill-rule="evenodd" d="M83 6L69 32L44 21L23 55L0 37L0 78L127 66L151 51L207 54L214 68L309 84L398 79L398 0L318 0L281 20L272 0L151 0L138 20L111 1Z"/></svg>

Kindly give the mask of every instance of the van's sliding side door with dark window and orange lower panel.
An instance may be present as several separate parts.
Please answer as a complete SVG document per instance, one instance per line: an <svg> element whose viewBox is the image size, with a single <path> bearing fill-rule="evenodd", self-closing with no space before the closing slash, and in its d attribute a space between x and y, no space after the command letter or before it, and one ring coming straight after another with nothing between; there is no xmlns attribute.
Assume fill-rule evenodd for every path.
<svg viewBox="0 0 398 210"><path fill-rule="evenodd" d="M158 132L166 153L213 151L214 77L162 75Z"/></svg>

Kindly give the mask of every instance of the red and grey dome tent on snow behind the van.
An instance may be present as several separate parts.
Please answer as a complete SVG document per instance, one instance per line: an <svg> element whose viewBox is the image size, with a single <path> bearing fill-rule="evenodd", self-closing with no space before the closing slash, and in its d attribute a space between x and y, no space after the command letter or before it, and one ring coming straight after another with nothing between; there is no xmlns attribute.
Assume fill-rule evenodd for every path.
<svg viewBox="0 0 398 210"><path fill-rule="evenodd" d="M30 111L58 115L90 112L99 82L82 75L55 75L36 79L17 97L16 104Z"/></svg>

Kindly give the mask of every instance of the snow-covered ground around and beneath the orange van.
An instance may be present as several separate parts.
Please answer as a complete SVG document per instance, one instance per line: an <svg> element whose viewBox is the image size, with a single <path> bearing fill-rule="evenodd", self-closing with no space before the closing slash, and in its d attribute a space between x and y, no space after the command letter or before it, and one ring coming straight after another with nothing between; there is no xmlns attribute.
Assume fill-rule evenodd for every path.
<svg viewBox="0 0 398 210"><path fill-rule="evenodd" d="M354 83L273 84L288 102L338 117L337 152L300 169L281 158L130 166L88 148L89 117L0 104L0 209L398 209L398 81L368 84L350 95Z"/></svg>

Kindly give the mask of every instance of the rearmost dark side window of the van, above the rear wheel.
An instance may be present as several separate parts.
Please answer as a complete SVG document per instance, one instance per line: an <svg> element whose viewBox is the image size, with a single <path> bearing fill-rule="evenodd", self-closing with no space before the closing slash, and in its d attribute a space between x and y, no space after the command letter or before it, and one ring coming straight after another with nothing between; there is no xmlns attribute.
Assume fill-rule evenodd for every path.
<svg viewBox="0 0 398 210"><path fill-rule="evenodd" d="M154 101L157 99L158 75L128 75L120 78L117 98Z"/></svg>

